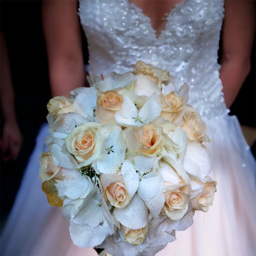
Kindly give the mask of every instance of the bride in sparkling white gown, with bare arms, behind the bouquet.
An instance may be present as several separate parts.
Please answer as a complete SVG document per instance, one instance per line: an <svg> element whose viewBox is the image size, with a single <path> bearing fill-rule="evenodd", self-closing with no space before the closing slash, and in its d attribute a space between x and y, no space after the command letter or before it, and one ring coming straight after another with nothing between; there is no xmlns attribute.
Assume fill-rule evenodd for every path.
<svg viewBox="0 0 256 256"><path fill-rule="evenodd" d="M91 76L123 74L141 60L169 71L178 87L190 87L189 104L208 127L217 192L209 211L196 211L193 225L157 255L256 255L255 160L236 116L228 115L250 71L255 1L81 0L78 9L74 0L44 0L42 12L52 97L69 97L85 84L80 24ZM97 255L72 243L61 209L46 206L39 182L31 180L47 131L38 135L1 241L3 255Z"/></svg>

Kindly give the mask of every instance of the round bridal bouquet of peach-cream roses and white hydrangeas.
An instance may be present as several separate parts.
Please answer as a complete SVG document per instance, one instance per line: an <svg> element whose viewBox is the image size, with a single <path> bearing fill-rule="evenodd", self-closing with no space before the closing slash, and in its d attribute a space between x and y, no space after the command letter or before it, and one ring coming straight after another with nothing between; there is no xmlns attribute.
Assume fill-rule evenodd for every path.
<svg viewBox="0 0 256 256"><path fill-rule="evenodd" d="M74 244L153 256L212 205L207 126L187 104L188 85L177 91L167 71L139 61L133 72L88 80L47 105L42 189L62 207Z"/></svg>

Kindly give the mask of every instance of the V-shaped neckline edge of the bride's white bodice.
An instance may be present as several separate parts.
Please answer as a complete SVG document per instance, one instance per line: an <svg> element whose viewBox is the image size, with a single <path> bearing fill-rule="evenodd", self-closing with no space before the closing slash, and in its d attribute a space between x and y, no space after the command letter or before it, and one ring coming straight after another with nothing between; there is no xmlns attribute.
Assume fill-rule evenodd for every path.
<svg viewBox="0 0 256 256"><path fill-rule="evenodd" d="M181 8L186 4L186 2L187 2L188 0L182 0L180 3L177 3L176 5L174 5L174 7L172 8L172 10L170 10L170 12L166 14L166 23L165 23L164 28L163 28L161 31L156 31L155 29L153 29L152 24L151 24L151 18L148 17L146 14L144 14L142 8L138 7L135 3L131 3L129 0L126 0L126 1L127 1L128 5L129 5L129 7L131 7L131 8L135 7L136 9L139 10L139 13L141 13L142 16L144 16L145 18L148 19L148 24L147 24L147 26L149 26L150 29L151 29L152 31L154 31L154 36L155 36L155 38L158 40L158 39L161 38L162 35L165 33L166 27L167 27L167 25L168 25L168 23L169 23L170 17L172 16L173 12L175 12L177 9L181 9ZM137 14L138 14L138 13L137 13ZM162 18L164 18L164 17L162 17Z"/></svg>

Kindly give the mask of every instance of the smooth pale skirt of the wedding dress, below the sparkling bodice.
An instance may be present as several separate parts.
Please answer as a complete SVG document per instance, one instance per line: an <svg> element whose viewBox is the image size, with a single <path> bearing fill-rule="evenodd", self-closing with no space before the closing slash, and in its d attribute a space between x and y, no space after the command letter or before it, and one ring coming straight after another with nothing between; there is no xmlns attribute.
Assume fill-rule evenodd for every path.
<svg viewBox="0 0 256 256"><path fill-rule="evenodd" d="M256 184L255 159L235 116L207 122L205 144L212 159L210 177L217 192L208 212L195 212L194 223L176 232L157 256L255 256ZM48 124L41 127L37 143L1 236L1 255L97 255L94 249L75 246L69 236L69 222L60 207L50 206L39 179L39 158L46 151Z"/></svg>

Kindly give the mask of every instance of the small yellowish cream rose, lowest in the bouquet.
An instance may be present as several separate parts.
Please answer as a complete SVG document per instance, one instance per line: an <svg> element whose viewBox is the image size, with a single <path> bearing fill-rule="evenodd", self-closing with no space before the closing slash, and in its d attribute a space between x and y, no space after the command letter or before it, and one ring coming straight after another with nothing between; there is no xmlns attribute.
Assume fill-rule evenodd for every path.
<svg viewBox="0 0 256 256"><path fill-rule="evenodd" d="M141 244L147 234L147 226L142 227L141 229L129 229L121 225L122 231L125 237L125 240L131 244Z"/></svg>

